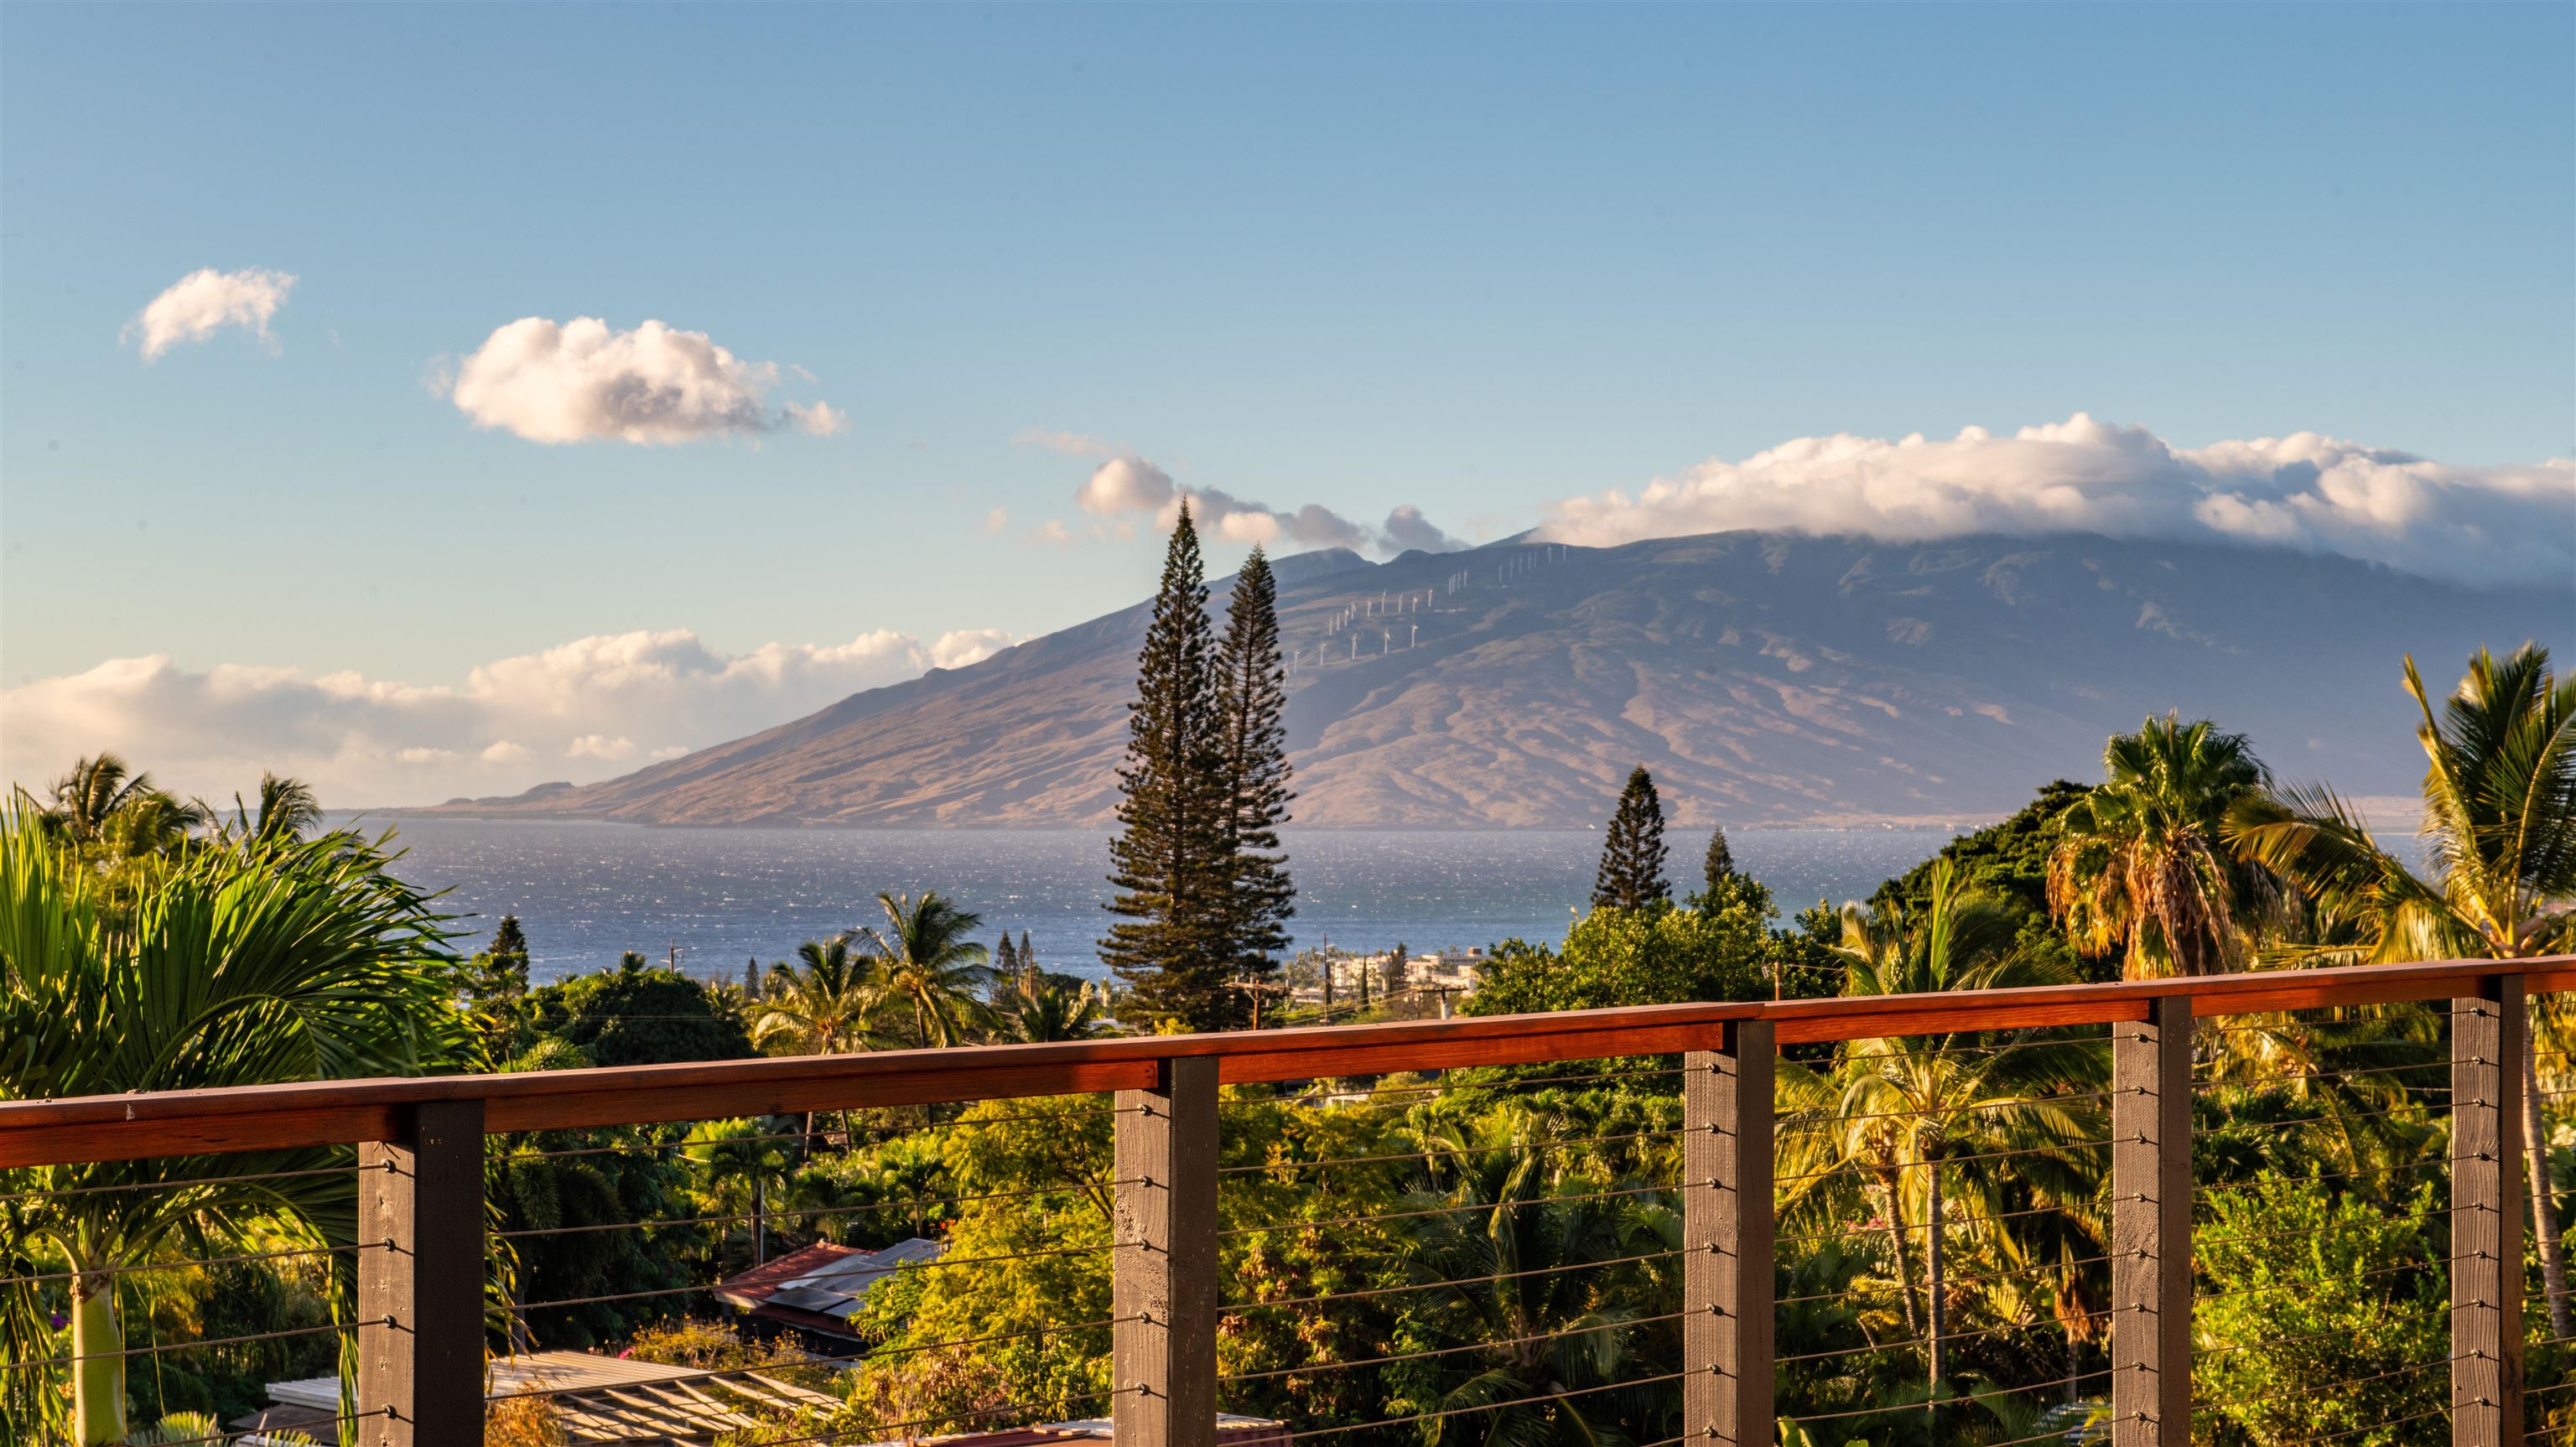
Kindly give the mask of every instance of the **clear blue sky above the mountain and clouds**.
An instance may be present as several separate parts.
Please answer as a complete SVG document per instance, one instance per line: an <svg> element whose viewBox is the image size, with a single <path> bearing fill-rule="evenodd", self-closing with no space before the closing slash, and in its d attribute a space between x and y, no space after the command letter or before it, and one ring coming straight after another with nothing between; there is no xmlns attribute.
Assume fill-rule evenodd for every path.
<svg viewBox="0 0 2576 1447"><path fill-rule="evenodd" d="M1041 633L1151 579L1074 507L1118 451L1471 541L2076 412L2537 463L2571 54L2568 5L10 5L0 685ZM147 363L198 268L296 281ZM477 427L438 384L520 317L848 425Z"/></svg>

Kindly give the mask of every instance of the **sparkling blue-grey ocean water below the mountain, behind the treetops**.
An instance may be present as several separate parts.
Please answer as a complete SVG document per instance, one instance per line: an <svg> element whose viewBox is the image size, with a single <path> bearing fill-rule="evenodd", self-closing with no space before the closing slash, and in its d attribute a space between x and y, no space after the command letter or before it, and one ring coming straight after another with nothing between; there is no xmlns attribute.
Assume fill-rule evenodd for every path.
<svg viewBox="0 0 2576 1447"><path fill-rule="evenodd" d="M368 821L361 819L361 826ZM1059 829L641 829L634 824L402 819L402 875L443 888L474 942L502 914L528 932L538 978L613 966L621 950L737 976L799 942L881 919L878 891L935 888L984 917L987 937L1025 929L1038 960L1097 973L1108 927L1108 834ZM1947 834L1744 829L1736 868L1772 886L1783 914L1844 901L1914 868ZM1698 881L1708 837L1667 834L1677 886ZM1296 945L1412 950L1558 940L1592 893L1600 834L1291 832Z"/></svg>

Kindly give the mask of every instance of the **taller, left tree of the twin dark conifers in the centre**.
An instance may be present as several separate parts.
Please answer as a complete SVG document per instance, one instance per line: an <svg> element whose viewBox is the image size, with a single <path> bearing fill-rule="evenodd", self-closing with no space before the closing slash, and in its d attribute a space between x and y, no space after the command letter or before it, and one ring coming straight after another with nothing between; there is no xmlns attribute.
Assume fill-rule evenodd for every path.
<svg viewBox="0 0 2576 1447"><path fill-rule="evenodd" d="M1221 1030L1234 1014L1231 863L1224 718L1206 564L1182 499L1162 590L1136 657L1128 754L1118 765L1108 940L1100 960L1149 1020ZM1131 1022L1133 1025L1133 1022Z"/></svg>

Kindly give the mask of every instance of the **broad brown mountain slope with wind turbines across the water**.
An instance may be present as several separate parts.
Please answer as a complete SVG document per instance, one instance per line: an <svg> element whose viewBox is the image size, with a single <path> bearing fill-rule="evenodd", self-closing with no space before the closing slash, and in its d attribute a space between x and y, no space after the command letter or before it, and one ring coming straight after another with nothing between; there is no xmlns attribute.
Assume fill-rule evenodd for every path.
<svg viewBox="0 0 2576 1447"><path fill-rule="evenodd" d="M2097 536L1716 533L1280 566L1309 826L1595 824L1631 765L1682 821L1953 821L2092 778L2179 708L2285 775L2411 793L2396 687L2563 633L2576 590ZM1466 582L1450 587L1450 577ZM1399 608L1412 592L1419 610ZM1360 608L1347 628L1332 621ZM647 824L1103 824L1146 608L647 770L446 811ZM1352 644L1358 641L1358 657Z"/></svg>

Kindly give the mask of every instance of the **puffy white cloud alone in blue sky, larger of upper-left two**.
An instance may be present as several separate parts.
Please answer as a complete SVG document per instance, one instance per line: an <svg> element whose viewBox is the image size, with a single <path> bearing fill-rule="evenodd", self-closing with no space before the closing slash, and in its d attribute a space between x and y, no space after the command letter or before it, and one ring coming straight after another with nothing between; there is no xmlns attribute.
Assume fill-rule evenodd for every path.
<svg viewBox="0 0 2576 1447"><path fill-rule="evenodd" d="M796 427L829 438L850 425L829 402L770 409L778 363L742 360L706 332L644 322L613 332L598 317L520 317L456 363L443 394L477 427L531 443L693 443Z"/></svg>

